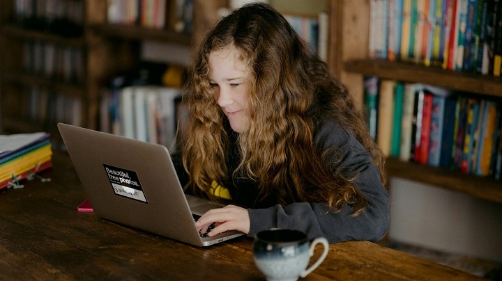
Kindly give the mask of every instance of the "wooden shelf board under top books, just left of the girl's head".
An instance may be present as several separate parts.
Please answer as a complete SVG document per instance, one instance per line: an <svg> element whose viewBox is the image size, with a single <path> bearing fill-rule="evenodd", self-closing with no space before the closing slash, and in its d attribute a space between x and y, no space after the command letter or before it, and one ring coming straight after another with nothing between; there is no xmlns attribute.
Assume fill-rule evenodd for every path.
<svg viewBox="0 0 502 281"><path fill-rule="evenodd" d="M125 24L93 24L89 28L94 33L107 38L138 41L151 40L184 46L190 46L192 43L192 36L190 34L165 29L147 29L141 26Z"/></svg>

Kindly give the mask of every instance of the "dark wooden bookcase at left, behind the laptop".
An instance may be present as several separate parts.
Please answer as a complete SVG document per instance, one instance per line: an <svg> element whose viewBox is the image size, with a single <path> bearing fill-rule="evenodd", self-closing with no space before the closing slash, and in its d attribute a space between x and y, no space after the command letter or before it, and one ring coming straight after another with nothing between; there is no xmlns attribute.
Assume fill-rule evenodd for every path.
<svg viewBox="0 0 502 281"><path fill-rule="evenodd" d="M0 3L0 132L1 134L29 133L33 131L48 131L53 138L59 139L56 129L57 122L68 122L82 127L98 129L99 103L102 88L109 78L117 72L135 69L139 63L141 42L145 40L182 45L190 47L196 35L200 35L208 22L214 20L214 13L194 13L192 32L177 32L172 28L169 13L176 1L166 1L166 25L163 29L155 29L131 24L109 24L107 22L108 3L106 0L37 0L24 3L41 3L37 8L44 7L47 12L54 3L63 3L64 7L77 5L76 23L78 32L61 33L52 29L38 29L36 24L43 23L45 17L19 17L16 0L6 0ZM195 8L217 10L226 1L195 1ZM201 3L200 3L201 2ZM52 6L54 8L54 6ZM56 10L62 10L61 7ZM50 13L47 12L47 15ZM214 15L213 15L214 14ZM45 14L43 14L45 15ZM197 17L199 15L199 17ZM21 20L22 19L22 20ZM30 25L26 22L31 21ZM36 21L36 22L35 22ZM27 49L26 45L41 45L43 51L36 53ZM26 56L36 59L47 56L45 48L72 48L78 50L80 60L77 65L64 62L66 67L79 73L79 79L64 79L61 75L34 71L27 68L35 67L36 63L26 65ZM40 56L42 54L43 56ZM56 56L57 57L57 56ZM61 60L63 58L61 57ZM42 62L46 67L46 61ZM69 66L68 66L69 65ZM33 99L33 89L50 93L44 102ZM61 108L57 99L72 99L75 106L67 111L72 118L57 118ZM42 109L33 113L30 104L44 104ZM66 104L68 105L68 104Z"/></svg>

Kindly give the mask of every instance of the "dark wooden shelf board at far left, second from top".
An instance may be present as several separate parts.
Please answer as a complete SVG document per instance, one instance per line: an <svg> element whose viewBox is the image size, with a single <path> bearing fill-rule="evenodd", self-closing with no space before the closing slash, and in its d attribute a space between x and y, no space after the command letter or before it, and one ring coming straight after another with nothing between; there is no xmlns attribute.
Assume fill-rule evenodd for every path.
<svg viewBox="0 0 502 281"><path fill-rule="evenodd" d="M85 94L85 87L82 84L59 81L58 79L49 79L43 75L27 74L22 72L9 72L2 74L3 81L18 83L25 86L38 86L55 90L58 93L82 97Z"/></svg>

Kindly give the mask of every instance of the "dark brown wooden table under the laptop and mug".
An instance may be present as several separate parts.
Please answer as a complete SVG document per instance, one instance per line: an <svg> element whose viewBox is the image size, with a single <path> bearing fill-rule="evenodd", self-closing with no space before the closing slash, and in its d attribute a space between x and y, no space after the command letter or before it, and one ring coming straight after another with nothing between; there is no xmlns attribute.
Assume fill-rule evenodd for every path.
<svg viewBox="0 0 502 281"><path fill-rule="evenodd" d="M85 194L65 152L54 152L51 182L0 191L0 280L264 280L252 239L197 248L77 212ZM319 255L317 249L315 255ZM476 280L367 241L330 244L304 280Z"/></svg>

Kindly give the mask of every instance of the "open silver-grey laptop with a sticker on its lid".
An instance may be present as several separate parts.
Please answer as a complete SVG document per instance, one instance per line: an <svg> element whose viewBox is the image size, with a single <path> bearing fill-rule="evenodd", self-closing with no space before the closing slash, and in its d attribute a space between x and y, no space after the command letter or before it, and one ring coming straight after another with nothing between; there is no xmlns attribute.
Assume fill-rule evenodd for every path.
<svg viewBox="0 0 502 281"><path fill-rule="evenodd" d="M97 216L195 246L243 235L199 234L195 218L225 205L185 195L165 146L63 123L58 128Z"/></svg>

